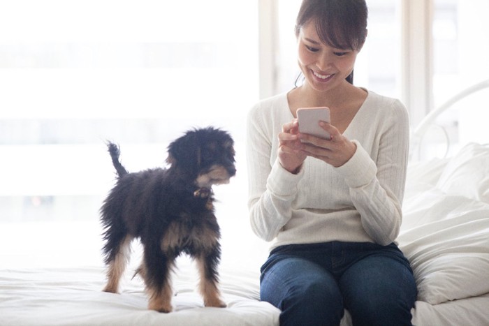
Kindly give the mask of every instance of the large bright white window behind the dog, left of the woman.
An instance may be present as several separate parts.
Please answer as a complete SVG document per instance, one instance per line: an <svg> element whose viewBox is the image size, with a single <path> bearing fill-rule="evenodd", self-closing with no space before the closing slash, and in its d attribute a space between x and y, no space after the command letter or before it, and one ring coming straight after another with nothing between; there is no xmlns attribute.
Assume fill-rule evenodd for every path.
<svg viewBox="0 0 489 326"><path fill-rule="evenodd" d="M240 121L258 98L256 6L0 3L3 264L56 264L66 232L80 241L100 235L98 209L114 181L106 140L124 146L133 171L164 165L168 143L196 126L229 131L239 155ZM226 205L246 210L235 199L246 191L239 165ZM36 235L26 238L25 229ZM101 263L99 252L73 264Z"/></svg>

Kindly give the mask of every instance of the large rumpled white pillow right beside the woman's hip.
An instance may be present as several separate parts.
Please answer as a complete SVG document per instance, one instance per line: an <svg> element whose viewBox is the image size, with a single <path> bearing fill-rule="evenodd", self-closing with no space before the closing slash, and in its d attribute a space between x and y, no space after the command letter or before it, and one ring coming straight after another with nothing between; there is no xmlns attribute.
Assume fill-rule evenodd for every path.
<svg viewBox="0 0 489 326"><path fill-rule="evenodd" d="M411 202L412 201L412 202ZM489 292L489 204L439 189L408 200L397 242L418 300L440 304Z"/></svg>

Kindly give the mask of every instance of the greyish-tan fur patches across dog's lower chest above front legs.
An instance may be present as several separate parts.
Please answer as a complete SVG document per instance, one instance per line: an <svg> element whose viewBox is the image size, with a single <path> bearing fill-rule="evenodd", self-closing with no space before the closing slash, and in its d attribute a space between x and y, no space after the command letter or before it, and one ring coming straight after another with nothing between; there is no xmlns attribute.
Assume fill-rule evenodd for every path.
<svg viewBox="0 0 489 326"><path fill-rule="evenodd" d="M175 221L170 223L163 239L161 239L161 250L168 252L175 248L190 245L205 250L214 248L217 241L218 234L210 228L189 228L187 223Z"/></svg>

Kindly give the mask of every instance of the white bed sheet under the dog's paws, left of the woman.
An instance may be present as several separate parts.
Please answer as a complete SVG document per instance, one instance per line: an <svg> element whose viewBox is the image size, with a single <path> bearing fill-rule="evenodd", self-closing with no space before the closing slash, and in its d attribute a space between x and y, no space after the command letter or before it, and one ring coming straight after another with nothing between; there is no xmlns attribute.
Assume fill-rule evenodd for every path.
<svg viewBox="0 0 489 326"><path fill-rule="evenodd" d="M121 294L102 292L103 267L3 270L0 325L278 325L279 310L258 301L256 274L222 273L228 306L204 308L196 270L183 265L173 283L172 313L149 311L143 283L129 274Z"/></svg>

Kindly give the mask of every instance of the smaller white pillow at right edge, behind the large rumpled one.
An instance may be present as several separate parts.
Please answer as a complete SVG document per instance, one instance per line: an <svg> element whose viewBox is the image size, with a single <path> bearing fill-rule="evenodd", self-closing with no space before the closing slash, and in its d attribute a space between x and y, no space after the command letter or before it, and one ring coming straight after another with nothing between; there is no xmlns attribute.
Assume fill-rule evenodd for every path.
<svg viewBox="0 0 489 326"><path fill-rule="evenodd" d="M437 188L450 195L462 195L489 202L489 146L469 143L448 161Z"/></svg>

